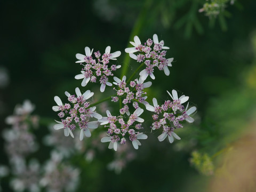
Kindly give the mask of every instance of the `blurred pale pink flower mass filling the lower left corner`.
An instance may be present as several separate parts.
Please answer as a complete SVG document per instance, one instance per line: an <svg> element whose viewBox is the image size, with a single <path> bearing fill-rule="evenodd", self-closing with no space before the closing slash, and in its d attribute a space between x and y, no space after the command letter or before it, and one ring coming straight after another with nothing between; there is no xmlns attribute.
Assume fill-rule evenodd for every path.
<svg viewBox="0 0 256 192"><path fill-rule="evenodd" d="M52 158L46 161L45 165L39 164L38 159L31 159L38 149L33 128L38 126L39 119L38 116L31 115L34 109L35 105L26 100L23 105L15 107L12 116L6 118L6 124L12 125L11 129L3 132L10 167L4 167L5 171L0 172L5 174L1 174L0 177L9 176L10 187L14 191L37 192L42 191L43 188L51 192L74 191L79 170L57 161L56 159L62 159L60 153L52 153ZM54 163L55 166L53 166ZM49 164L52 166L50 167ZM58 178L56 178L57 175ZM58 182L52 182L54 178Z"/></svg>

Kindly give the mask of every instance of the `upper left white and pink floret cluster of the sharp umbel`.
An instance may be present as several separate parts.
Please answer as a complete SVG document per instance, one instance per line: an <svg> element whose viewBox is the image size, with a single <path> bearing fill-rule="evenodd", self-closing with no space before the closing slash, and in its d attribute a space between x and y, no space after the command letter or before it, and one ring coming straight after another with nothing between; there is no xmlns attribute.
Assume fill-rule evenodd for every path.
<svg viewBox="0 0 256 192"><path fill-rule="evenodd" d="M76 62L81 63L84 68L82 68L81 74L76 75L75 78L83 79L82 86L86 86L89 81L96 83L98 78L98 81L101 84L100 91L104 92L106 85L112 85L108 82L108 77L113 76L112 72L121 67L120 65L111 65L109 67L109 60L116 60L116 58L121 55L121 52L116 51L110 53L110 46L107 46L105 53L102 56L99 51L94 52L95 59L92 57L92 52L93 49L91 51L89 47L85 47L86 55L80 53L76 54L76 58L79 59Z"/></svg>

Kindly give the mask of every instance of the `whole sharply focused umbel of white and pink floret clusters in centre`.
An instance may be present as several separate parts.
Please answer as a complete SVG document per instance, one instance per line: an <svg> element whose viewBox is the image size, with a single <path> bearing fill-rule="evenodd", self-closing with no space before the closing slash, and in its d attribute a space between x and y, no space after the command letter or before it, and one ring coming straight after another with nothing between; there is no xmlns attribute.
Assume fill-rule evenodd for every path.
<svg viewBox="0 0 256 192"><path fill-rule="evenodd" d="M170 75L169 67L172 67L173 58L166 58L166 53L169 47L164 46L164 41L158 41L158 36L153 35L153 39L148 39L142 44L139 37L134 37L134 42L130 42L133 47L125 49L125 52L130 57L136 60L139 65L133 74L118 78L114 76L117 69L121 65L111 63L121 55L121 51L110 53L110 46L106 47L105 53L100 51L94 52L89 47L85 47L85 55L77 53L76 58L82 66L81 74L76 75L76 79L83 79L81 85L86 86L88 83L100 83L100 92L104 92L106 85L115 91L114 95L105 97L97 103L90 103L90 98L93 92L85 91L83 94L76 87L75 94L65 92L67 103L62 103L58 96L54 97L57 106L53 106L54 111L58 111L59 121L54 125L54 129L63 129L66 137L71 135L74 138L74 133L77 129L80 130L79 139L91 137L93 129L101 129L106 131L106 137L101 138L101 142L109 142L109 149L118 150L118 145L125 145L126 142L131 142L135 149L141 145L140 140L147 139L148 136L141 130L151 129L162 130L162 134L158 136L159 141L169 138L170 143L180 137L175 133L175 130L183 127L182 123L194 122L190 117L196 107L183 106L189 97L181 95L172 90L172 94L167 91L172 100L166 100L161 106L158 105L156 98L153 99L153 105L147 100L147 92L145 89L152 85L152 82L147 81L147 78L155 80L157 70L163 70L166 76ZM139 74L137 78L135 75ZM119 111L106 110L106 115L100 115L97 112L96 105L109 99L111 102L119 103ZM145 127L143 124L143 112L151 111L152 120L150 127ZM148 119L147 119L148 120ZM149 132L149 131L148 131Z"/></svg>

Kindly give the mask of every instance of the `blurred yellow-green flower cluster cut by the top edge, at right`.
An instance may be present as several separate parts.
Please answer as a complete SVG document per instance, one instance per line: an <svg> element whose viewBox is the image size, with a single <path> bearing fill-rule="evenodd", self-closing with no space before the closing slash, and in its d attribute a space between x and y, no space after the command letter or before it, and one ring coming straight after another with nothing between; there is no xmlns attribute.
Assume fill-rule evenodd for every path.
<svg viewBox="0 0 256 192"><path fill-rule="evenodd" d="M203 8L199 9L199 12L205 12L205 15L212 18L223 12L227 6L227 3L234 4L235 0L206 0ZM209 3L208 3L209 2Z"/></svg>

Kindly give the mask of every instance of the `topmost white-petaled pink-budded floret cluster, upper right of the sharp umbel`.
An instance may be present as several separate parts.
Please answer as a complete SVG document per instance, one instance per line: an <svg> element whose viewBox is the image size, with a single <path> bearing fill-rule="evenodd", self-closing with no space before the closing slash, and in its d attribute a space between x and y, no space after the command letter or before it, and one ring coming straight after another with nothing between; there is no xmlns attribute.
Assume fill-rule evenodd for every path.
<svg viewBox="0 0 256 192"><path fill-rule="evenodd" d="M152 39L148 39L145 44L141 44L138 36L134 37L134 42L130 42L134 47L126 48L125 52L129 53L132 59L137 60L139 63L145 63L146 68L140 72L140 78L142 81L148 77L148 75L155 79L154 70L164 70L165 75L170 75L168 67L171 67L173 58L166 59L166 51L169 47L164 46L164 41L158 42L158 37L155 34ZM153 45L154 43L154 45ZM135 52L139 54L135 55Z"/></svg>

